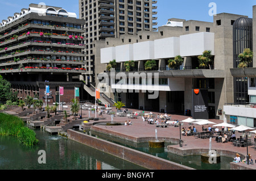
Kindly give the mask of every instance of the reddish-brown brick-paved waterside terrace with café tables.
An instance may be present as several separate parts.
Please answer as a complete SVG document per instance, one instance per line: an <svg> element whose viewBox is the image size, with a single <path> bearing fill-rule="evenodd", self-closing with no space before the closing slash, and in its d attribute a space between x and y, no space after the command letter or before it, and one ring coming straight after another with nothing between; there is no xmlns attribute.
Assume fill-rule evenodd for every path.
<svg viewBox="0 0 256 181"><path fill-rule="evenodd" d="M70 106L69 106L70 107ZM65 108L65 110L70 110L70 108ZM21 110L20 110L21 111ZM113 111L115 111L115 108L113 108ZM131 112L139 112L139 110L129 110ZM15 110L8 109L5 111L6 113L14 114L16 115L17 112L19 112L19 109L16 108ZM149 113L149 112L145 112ZM161 114L159 112L152 112L154 114ZM81 114L81 112L80 112ZM89 111L88 110L82 110L82 118L86 119L88 117ZM90 112L90 116L95 117L95 113ZM171 115L172 121L179 120L182 121L184 119L187 119L188 116L181 116L181 115ZM134 141L134 142L144 142L148 140L152 140L155 138L155 129L158 131L158 139L159 140L165 140L176 143L176 145L168 146L168 151L171 153L175 153L178 155L192 155L192 154L201 154L206 153L209 151L209 138L197 138L195 136L181 136L181 140L183 141L183 146L179 146L179 139L180 139L180 128L174 127L172 125L168 125L167 128L159 128L156 127L154 124L148 124L147 121L143 121L142 117L139 116L137 119L129 119L128 117L120 117L115 115L113 117L113 121L116 123L125 123L125 121L133 123L133 125L119 125L119 126L106 126L106 125L97 125L98 123L106 123L111 122L112 118L111 115L108 115L106 113L103 113L102 116L97 115L98 118L105 117L104 120L90 120L88 123L82 123L81 128L86 129L90 127L91 130L101 132L104 134L108 134L113 137L118 137L123 140L127 141ZM71 118L71 117L69 117ZM222 123L223 120L210 120L216 124ZM208 128L209 125L204 125L205 128ZM182 127L187 129L188 127L193 127L201 132L202 125L190 125L189 123L184 123ZM242 133L236 132L236 136L240 137ZM246 147L237 147L233 146L232 142L217 142L215 141L214 134L212 138L212 149L217 150L218 154L228 156L228 157L235 157L236 153L239 153L242 156L242 159L246 156ZM254 136L254 134L252 134ZM254 140L253 137L251 140ZM253 141L254 142L254 141ZM253 160L256 158L256 150L254 150L254 144L251 146L248 146L249 153L252 155ZM231 169L256 169L256 164L254 165L246 165L246 163L232 163Z"/></svg>

